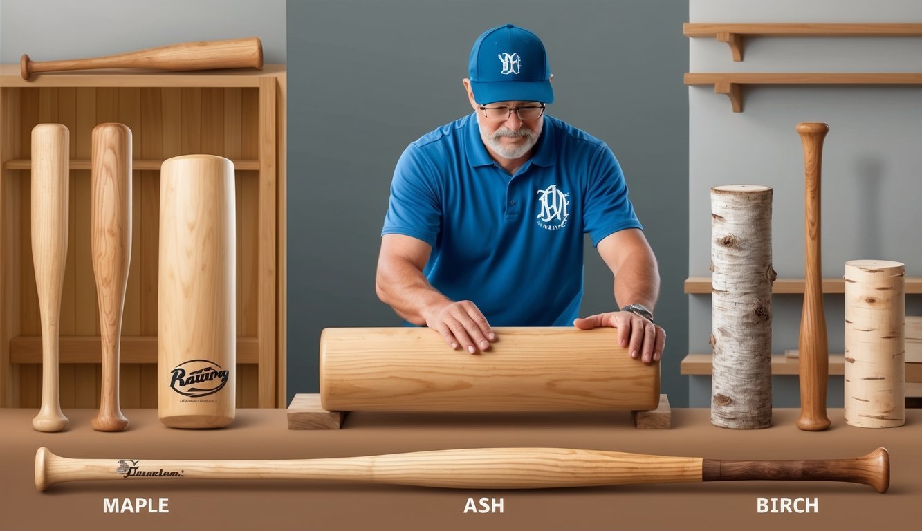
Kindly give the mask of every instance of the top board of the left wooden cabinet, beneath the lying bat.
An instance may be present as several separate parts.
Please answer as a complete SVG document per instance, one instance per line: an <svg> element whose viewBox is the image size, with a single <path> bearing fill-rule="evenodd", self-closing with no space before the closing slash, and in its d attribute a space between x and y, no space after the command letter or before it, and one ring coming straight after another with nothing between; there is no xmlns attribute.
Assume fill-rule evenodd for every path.
<svg viewBox="0 0 922 531"><path fill-rule="evenodd" d="M32 57L37 61L46 59ZM19 65L0 65L0 87L259 87L261 77L277 77L287 65L263 65L262 70L234 68L166 72L162 70L74 70L34 74L29 81L19 76Z"/></svg>

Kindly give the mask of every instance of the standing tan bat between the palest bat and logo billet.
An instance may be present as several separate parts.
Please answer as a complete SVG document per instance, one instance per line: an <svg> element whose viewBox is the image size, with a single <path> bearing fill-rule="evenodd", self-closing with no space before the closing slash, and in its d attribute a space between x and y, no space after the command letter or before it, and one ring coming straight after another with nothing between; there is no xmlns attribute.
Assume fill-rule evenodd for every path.
<svg viewBox="0 0 922 531"><path fill-rule="evenodd" d="M128 419L119 407L119 344L124 293L131 261L131 130L99 124L92 135L90 245L100 306L102 386L97 431L122 431Z"/></svg>

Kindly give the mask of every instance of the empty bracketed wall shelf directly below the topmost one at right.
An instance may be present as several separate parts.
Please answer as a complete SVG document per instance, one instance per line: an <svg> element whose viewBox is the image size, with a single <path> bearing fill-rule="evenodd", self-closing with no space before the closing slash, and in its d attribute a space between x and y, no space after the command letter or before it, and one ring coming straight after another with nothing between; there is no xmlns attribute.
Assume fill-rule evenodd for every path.
<svg viewBox="0 0 922 531"><path fill-rule="evenodd" d="M686 72L686 85L714 85L733 112L743 112L743 85L922 85L922 74L893 73L701 73Z"/></svg>

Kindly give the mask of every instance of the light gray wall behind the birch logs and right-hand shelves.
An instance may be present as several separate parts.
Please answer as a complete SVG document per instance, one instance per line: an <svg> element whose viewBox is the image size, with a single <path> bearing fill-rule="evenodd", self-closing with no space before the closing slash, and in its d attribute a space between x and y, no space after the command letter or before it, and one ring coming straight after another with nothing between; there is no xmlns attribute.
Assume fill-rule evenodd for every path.
<svg viewBox="0 0 922 531"><path fill-rule="evenodd" d="M916 22L917 0L691 0L691 22ZM745 41L744 61L714 39L691 39L692 72L920 72L922 39L774 38ZM689 268L708 276L712 186L774 188L774 269L804 276L803 148L799 122L830 125L822 161L822 274L842 277L845 261L897 260L922 275L922 104L918 87L762 87L744 89L743 112L713 87L689 93ZM906 312L922 314L919 296ZM830 352L843 352L841 295L824 298ZM775 296L773 350L798 348L802 298ZM689 302L690 348L710 352L711 298ZM841 381L841 377L838 377ZM775 406L797 406L796 378L775 385ZM841 386L830 404L841 407ZM703 399L702 399L703 398ZM692 397L708 407L707 395Z"/></svg>

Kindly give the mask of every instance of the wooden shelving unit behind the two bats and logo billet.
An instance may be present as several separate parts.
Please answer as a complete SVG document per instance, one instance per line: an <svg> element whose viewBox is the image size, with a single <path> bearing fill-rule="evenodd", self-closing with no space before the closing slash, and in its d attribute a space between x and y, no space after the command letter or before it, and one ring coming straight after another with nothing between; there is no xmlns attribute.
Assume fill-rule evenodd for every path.
<svg viewBox="0 0 922 531"><path fill-rule="evenodd" d="M89 249L90 132L133 134L131 268L122 329L122 407L157 407L160 164L231 159L236 179L237 406L285 404L285 65L179 73L19 77L0 65L0 407L38 407L41 328L30 247L30 132L70 131L70 234L61 309L63 407L98 407L100 327Z"/></svg>

